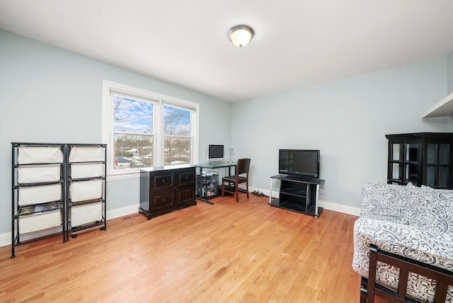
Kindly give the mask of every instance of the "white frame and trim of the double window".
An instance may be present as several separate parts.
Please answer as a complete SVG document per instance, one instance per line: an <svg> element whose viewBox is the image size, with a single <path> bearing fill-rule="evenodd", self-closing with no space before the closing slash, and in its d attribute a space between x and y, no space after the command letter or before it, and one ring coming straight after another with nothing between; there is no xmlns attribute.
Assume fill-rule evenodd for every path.
<svg viewBox="0 0 453 303"><path fill-rule="evenodd" d="M107 144L108 180L138 178L140 171L139 168L113 169L113 96L111 96L110 91L131 96L131 98L136 98L137 100L147 100L154 103L154 166L164 166L164 105L189 110L191 134L190 163L198 164L200 104L134 86L103 80L102 142L103 144Z"/></svg>

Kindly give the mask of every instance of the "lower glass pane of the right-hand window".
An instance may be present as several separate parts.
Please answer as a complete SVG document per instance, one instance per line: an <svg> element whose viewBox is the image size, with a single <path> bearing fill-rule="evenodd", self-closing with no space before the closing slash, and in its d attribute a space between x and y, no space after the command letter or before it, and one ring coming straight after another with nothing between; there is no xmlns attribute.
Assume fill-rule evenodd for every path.
<svg viewBox="0 0 453 303"><path fill-rule="evenodd" d="M164 165L190 164L190 140L190 137L165 137Z"/></svg>

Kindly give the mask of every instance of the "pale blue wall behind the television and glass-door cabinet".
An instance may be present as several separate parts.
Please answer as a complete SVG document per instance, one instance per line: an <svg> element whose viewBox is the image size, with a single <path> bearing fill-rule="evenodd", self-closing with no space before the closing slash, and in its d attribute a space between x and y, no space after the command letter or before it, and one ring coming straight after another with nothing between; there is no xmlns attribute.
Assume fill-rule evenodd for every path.
<svg viewBox="0 0 453 303"><path fill-rule="evenodd" d="M446 76L444 57L234 103L231 144L263 189L278 149L321 149L320 200L359 207L363 183L386 183L386 134L449 130L449 118L420 119L445 98Z"/></svg>

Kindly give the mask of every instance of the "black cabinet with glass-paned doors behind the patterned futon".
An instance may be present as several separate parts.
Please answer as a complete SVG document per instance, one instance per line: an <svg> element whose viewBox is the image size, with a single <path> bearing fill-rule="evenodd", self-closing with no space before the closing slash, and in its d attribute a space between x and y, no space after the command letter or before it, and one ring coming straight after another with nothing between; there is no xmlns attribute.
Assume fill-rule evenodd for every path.
<svg viewBox="0 0 453 303"><path fill-rule="evenodd" d="M387 183L453 189L453 133L417 132L386 138Z"/></svg>

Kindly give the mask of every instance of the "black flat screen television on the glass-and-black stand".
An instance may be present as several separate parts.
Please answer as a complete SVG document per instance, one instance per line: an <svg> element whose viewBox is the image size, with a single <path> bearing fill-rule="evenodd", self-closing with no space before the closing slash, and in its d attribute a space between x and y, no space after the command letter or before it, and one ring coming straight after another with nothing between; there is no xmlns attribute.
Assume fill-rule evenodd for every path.
<svg viewBox="0 0 453 303"><path fill-rule="evenodd" d="M319 178L319 149L279 149L278 173Z"/></svg>

